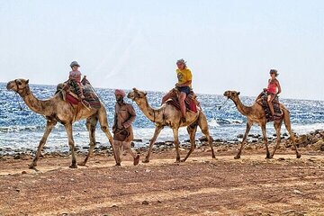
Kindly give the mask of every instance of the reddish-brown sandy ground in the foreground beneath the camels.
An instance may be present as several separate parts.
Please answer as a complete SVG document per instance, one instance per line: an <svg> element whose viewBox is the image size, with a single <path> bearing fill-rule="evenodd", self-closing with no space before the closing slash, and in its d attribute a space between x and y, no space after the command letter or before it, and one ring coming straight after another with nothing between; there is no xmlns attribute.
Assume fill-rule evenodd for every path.
<svg viewBox="0 0 324 216"><path fill-rule="evenodd" d="M181 152L184 157L184 150ZM70 157L0 161L0 215L324 215L323 152L281 149L210 152L197 149L181 164L175 150L149 164L122 166L94 155L70 169ZM141 154L144 157L145 152ZM78 161L83 159L77 157Z"/></svg>

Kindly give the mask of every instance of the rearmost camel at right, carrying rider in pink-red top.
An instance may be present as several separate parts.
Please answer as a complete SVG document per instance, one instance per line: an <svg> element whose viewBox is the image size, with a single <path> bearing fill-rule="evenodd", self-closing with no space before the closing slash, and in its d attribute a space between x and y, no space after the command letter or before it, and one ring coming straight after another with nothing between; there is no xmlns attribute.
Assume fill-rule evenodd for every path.
<svg viewBox="0 0 324 216"><path fill-rule="evenodd" d="M235 159L240 158L242 149L243 149L244 144L247 139L247 134L248 134L249 130L251 129L251 126L253 125L253 123L257 123L262 129L263 139L266 144L266 158L273 158L275 156L275 150L278 148L280 141L281 141L280 130L281 130L283 121L284 121L286 130L288 130L288 132L291 136L290 138L293 140L293 147L295 148L295 151L296 151L296 157L300 158L301 154L298 152L296 144L295 144L295 137L293 135L293 131L292 131L292 127L291 127L289 111L284 107L284 104L280 103L280 109L284 112L283 118L280 120L274 121L277 139L276 139L276 145L274 148L274 152L272 155L270 155L269 148L267 145L268 142L267 142L267 138L266 138L266 112L265 112L264 108L257 102L255 102L252 106L246 106L240 101L238 95L239 95L239 92L236 92L236 91L226 91L224 93L224 96L227 96L229 99L231 99L235 103L236 107L238 108L238 112L241 112L242 115L247 116L247 130L244 134L244 137L243 137L243 140L241 143L241 147L238 150L238 155L235 156L234 158Z"/></svg>

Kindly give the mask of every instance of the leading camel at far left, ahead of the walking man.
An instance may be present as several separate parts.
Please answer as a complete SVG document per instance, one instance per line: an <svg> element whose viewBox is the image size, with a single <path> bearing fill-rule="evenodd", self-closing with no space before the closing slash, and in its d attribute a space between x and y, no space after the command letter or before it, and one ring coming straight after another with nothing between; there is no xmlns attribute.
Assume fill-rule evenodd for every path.
<svg viewBox="0 0 324 216"><path fill-rule="evenodd" d="M43 115L47 120L44 135L40 139L40 144L37 149L36 156L33 158L30 168L34 168L35 166L37 166L37 161L40 157L41 149L44 147L46 140L49 137L49 133L57 124L57 122L63 124L65 129L67 130L68 146L72 154L72 164L71 166L69 166L71 168L77 167L75 156L75 144L72 135L73 122L86 119L86 129L89 131L90 138L89 152L85 157L85 161L79 163L78 165L85 166L85 163L92 155L95 145L95 125L98 120L100 122L101 129L103 130L103 132L105 133L105 135L109 139L109 142L112 145L112 135L109 131L107 113L103 103L101 103L100 109L88 109L85 108L85 106L83 105L81 105L81 107L78 107L78 105L72 105L64 101L60 94L55 94L53 97L47 100L40 101L31 93L28 83L28 79L15 79L13 81L10 81L6 87L8 90L13 90L14 92L20 94L20 96L23 98L23 101L27 104L31 111Z"/></svg>

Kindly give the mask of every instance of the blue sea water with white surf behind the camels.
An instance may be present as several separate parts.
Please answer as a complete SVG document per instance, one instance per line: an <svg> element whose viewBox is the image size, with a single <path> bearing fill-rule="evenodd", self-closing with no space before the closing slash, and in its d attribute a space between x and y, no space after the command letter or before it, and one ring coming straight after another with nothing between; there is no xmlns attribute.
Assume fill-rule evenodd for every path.
<svg viewBox="0 0 324 216"><path fill-rule="evenodd" d="M45 119L26 106L22 98L12 91L6 90L6 84L0 83L0 155L14 150L35 150L43 135L46 121ZM55 93L54 85L31 85L33 94L41 99L46 99ZM96 93L106 106L108 112L108 121L110 130L112 130L113 107L115 103L112 89L95 89ZM128 91L126 91L128 92ZM148 91L148 103L152 107L158 107L165 93ZM230 100L225 103L222 109L218 109L220 104L226 101L226 98L217 94L198 94L198 100L201 102L202 110L207 116L210 133L213 139L233 140L238 134L243 134L246 128L246 118L241 115L234 103ZM255 98L241 96L241 100L246 105L251 105ZM148 121L146 116L139 110L136 103L132 103L137 118L133 123L135 139L142 139L136 142L136 146L148 145L149 139L153 136L154 124ZM324 101L281 99L281 103L291 112L293 131L298 134L304 134L312 130L324 129ZM20 109L20 105L23 108ZM284 126L282 132L285 132ZM88 146L88 132L85 128L85 121L77 121L73 126L74 139L76 146L82 148ZM261 134L257 125L253 126L251 134ZM273 136L275 130L272 123L267 124L267 135ZM185 128L179 131L180 140L189 139ZM200 130L197 131L196 138L202 136ZM172 130L166 128L162 130L157 141L173 140ZM103 132L97 126L96 141L99 145L109 145ZM49 135L46 144L47 151L67 151L67 135L64 127L58 124Z"/></svg>

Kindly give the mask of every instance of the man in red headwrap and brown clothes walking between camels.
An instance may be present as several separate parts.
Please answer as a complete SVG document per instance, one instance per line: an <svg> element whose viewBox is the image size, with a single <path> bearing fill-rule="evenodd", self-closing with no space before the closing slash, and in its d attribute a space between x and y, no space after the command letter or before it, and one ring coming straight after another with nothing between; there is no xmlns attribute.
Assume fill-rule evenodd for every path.
<svg viewBox="0 0 324 216"><path fill-rule="evenodd" d="M117 103L115 104L112 132L116 166L121 166L121 150L130 153L134 158L134 166L136 166L139 164L139 155L130 148L130 143L134 138L131 123L135 120L136 113L130 103L124 102L123 98L126 95L124 91L116 89L114 94Z"/></svg>

